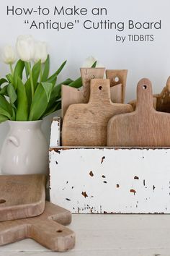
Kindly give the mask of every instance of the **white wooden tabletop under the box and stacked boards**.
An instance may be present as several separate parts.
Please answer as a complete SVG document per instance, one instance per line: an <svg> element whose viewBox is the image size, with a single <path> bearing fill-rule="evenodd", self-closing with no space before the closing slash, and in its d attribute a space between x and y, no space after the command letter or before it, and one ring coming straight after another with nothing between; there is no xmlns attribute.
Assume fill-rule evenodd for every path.
<svg viewBox="0 0 170 256"><path fill-rule="evenodd" d="M0 247L0 256L169 256L169 215L73 215L76 246L50 252L32 239Z"/></svg>

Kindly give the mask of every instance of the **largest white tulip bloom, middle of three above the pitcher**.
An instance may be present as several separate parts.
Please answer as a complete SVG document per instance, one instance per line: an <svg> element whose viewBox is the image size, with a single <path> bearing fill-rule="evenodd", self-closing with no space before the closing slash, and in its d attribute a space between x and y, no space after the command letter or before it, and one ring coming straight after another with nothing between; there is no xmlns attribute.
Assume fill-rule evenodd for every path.
<svg viewBox="0 0 170 256"><path fill-rule="evenodd" d="M30 62L35 54L35 40L32 35L19 35L17 38L17 52L19 59Z"/></svg>

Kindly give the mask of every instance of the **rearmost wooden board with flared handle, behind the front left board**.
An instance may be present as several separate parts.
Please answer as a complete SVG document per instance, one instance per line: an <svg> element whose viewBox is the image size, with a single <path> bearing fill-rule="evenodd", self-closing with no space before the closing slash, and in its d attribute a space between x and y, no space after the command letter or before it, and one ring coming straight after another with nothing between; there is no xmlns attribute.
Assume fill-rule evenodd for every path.
<svg viewBox="0 0 170 256"><path fill-rule="evenodd" d="M62 116L66 114L68 106L77 103L88 103L90 96L90 80L94 78L104 77L104 68L81 68L81 79L83 89L72 88L68 85L62 85L61 88L61 103Z"/></svg>

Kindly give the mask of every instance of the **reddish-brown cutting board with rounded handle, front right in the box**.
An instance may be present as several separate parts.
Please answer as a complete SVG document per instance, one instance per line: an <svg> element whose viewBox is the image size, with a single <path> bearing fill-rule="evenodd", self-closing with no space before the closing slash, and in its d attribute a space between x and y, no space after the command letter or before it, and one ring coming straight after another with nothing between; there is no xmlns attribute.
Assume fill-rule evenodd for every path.
<svg viewBox="0 0 170 256"><path fill-rule="evenodd" d="M151 82L142 79L137 87L137 106L133 113L109 120L107 145L123 147L169 147L170 114L153 108Z"/></svg>

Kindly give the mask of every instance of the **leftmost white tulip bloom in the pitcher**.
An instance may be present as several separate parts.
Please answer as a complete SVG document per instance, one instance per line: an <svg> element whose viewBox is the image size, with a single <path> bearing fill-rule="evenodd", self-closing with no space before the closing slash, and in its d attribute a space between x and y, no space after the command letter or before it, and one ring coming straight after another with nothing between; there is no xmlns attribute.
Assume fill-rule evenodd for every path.
<svg viewBox="0 0 170 256"><path fill-rule="evenodd" d="M13 64L17 59L17 54L12 46L4 46L4 51L2 52L2 59L6 64Z"/></svg>

